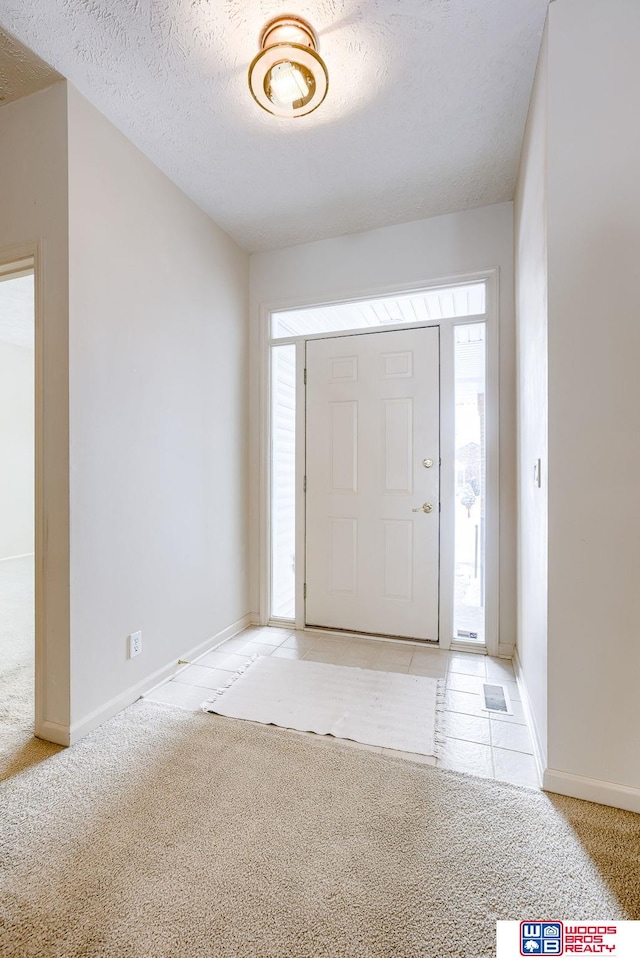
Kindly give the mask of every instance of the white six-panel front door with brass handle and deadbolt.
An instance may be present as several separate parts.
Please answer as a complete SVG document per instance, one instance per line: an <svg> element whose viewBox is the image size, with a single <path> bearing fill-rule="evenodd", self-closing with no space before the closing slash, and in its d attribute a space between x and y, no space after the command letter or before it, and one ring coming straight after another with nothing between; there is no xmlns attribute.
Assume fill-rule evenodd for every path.
<svg viewBox="0 0 640 958"><path fill-rule="evenodd" d="M439 330L310 340L306 369L306 624L437 641Z"/></svg>

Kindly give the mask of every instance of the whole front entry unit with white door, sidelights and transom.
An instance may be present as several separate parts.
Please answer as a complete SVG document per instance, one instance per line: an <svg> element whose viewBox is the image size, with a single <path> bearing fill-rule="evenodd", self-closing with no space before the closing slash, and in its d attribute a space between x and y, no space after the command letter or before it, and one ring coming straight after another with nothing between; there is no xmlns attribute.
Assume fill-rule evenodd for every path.
<svg viewBox="0 0 640 958"><path fill-rule="evenodd" d="M422 641L439 639L443 648L497 653L495 285L496 277L488 272L455 284L267 314L263 623L297 629L320 625L334 631ZM429 369L427 374L420 366L426 355L427 334L421 334L425 345L417 340L412 343L418 330L430 328L435 339L427 337L428 349L433 350L435 342L437 356L435 367L424 367ZM392 330L399 337L393 350L383 347L385 337L390 342ZM387 370L380 373L378 391L367 399L357 392L359 374L355 370L360 362L362 375L369 375L364 372L364 360L358 357L372 349L375 356L366 360L371 369L379 371L381 363L387 363ZM335 353L333 359L329 353ZM314 372L311 367L316 355ZM327 393L318 399L317 381L326 378L325 367L329 369L327 363L331 362L334 372L329 379L334 381L329 392L333 389L335 395ZM403 362L406 369L400 368ZM413 376L413 366L422 370L415 376L417 391L410 389L406 396L396 396L398 384L408 383ZM438 442L432 438L424 441L428 432L422 438L420 434L427 399L418 387L425 375L439 380L436 406L433 398L428 400L429 416L433 419L435 415L439 429L436 453L426 447L437 449ZM347 386L349 380L351 386ZM349 389L353 395L347 396ZM324 411L316 408L317 402L324 403ZM386 416L386 438L381 410ZM327 417L333 417L333 432L323 431ZM373 447L377 452L372 456ZM349 486L343 491L351 496L354 508L345 512L345 497L341 502L334 497L323 507L325 516L313 511L313 496L318 481L324 483L323 492L328 491L329 471L323 463L329 460L333 462L331 475ZM404 478L400 475L402 463L406 466ZM386 489L385 469L387 479L393 473ZM349 471L350 477L346 475ZM310 482L316 483L314 489L308 486ZM360 520L354 518L355 500L360 495L369 497L366 504L360 502L365 512L371 508L379 511L373 524L369 523L371 528L362 518L364 513ZM406 501L402 500L398 511L403 495ZM393 515L389 511L392 505ZM429 523L420 509L436 521ZM424 521L418 521L416 512ZM433 555L427 560L430 553L425 542L435 528L434 564ZM324 535L325 529L335 533L331 541L328 532ZM368 536L369 546L364 550L362 540L356 545L359 534ZM347 562L349 549L353 555ZM354 565L356 554L362 573ZM333 596L327 600L332 612L328 607L325 612L317 601L322 589ZM424 627L415 621L403 627L408 607L427 593L430 598L424 601L429 610L418 613ZM373 619L369 614L372 599L379 606ZM343 607L352 608L352 600L368 607L369 613L340 613ZM427 625L434 616L435 629ZM384 625L371 628L374 620L384 620Z"/></svg>

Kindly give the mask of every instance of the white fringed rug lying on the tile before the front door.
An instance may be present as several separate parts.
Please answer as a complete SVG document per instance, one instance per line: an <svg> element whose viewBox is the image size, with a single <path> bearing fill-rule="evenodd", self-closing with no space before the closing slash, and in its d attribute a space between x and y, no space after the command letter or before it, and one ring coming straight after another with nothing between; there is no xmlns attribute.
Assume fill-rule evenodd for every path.
<svg viewBox="0 0 640 958"><path fill-rule="evenodd" d="M444 682L421 675L256 656L207 702L207 712L436 754ZM443 706L441 706L442 708Z"/></svg>

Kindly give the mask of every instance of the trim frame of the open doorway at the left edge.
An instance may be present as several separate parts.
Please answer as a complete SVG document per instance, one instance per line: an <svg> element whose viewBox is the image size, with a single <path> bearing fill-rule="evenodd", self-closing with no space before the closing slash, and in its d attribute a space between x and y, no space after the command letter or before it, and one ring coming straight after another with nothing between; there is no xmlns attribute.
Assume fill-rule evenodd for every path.
<svg viewBox="0 0 640 958"><path fill-rule="evenodd" d="M0 276L17 277L33 271L34 292L34 603L35 603L35 683L34 731L38 735L44 721L45 702L45 508L44 508L44 316L42 289L42 253L39 242L0 250Z"/></svg>

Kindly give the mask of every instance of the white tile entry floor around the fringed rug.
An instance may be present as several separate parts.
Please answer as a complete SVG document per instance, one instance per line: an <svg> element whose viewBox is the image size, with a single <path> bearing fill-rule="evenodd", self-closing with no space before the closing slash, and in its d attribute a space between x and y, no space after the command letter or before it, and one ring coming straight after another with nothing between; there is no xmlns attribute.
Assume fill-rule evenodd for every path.
<svg viewBox="0 0 640 958"><path fill-rule="evenodd" d="M206 699L207 689L224 685L231 674L256 652L446 679L445 738L437 760L356 742L348 744L484 778L539 787L513 667L505 659L469 652L445 652L402 642L250 628L207 652L145 697L196 711ZM506 685L513 715L492 713L488 716L481 710L481 683L491 679Z"/></svg>

